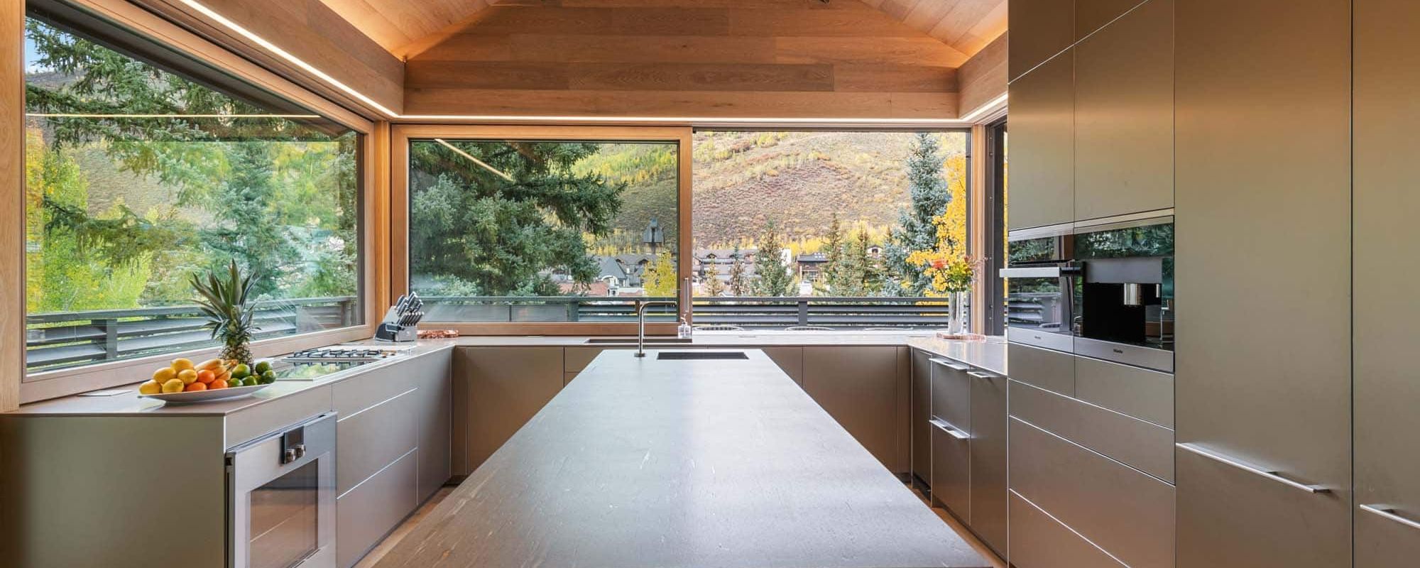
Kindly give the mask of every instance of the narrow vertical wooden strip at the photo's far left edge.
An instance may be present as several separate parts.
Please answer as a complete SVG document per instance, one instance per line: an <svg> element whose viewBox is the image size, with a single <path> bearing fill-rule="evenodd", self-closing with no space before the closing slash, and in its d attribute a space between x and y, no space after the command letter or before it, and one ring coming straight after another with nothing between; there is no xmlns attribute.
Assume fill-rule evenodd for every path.
<svg viewBox="0 0 1420 568"><path fill-rule="evenodd" d="M0 412L24 378L24 3L0 3Z"/></svg>

